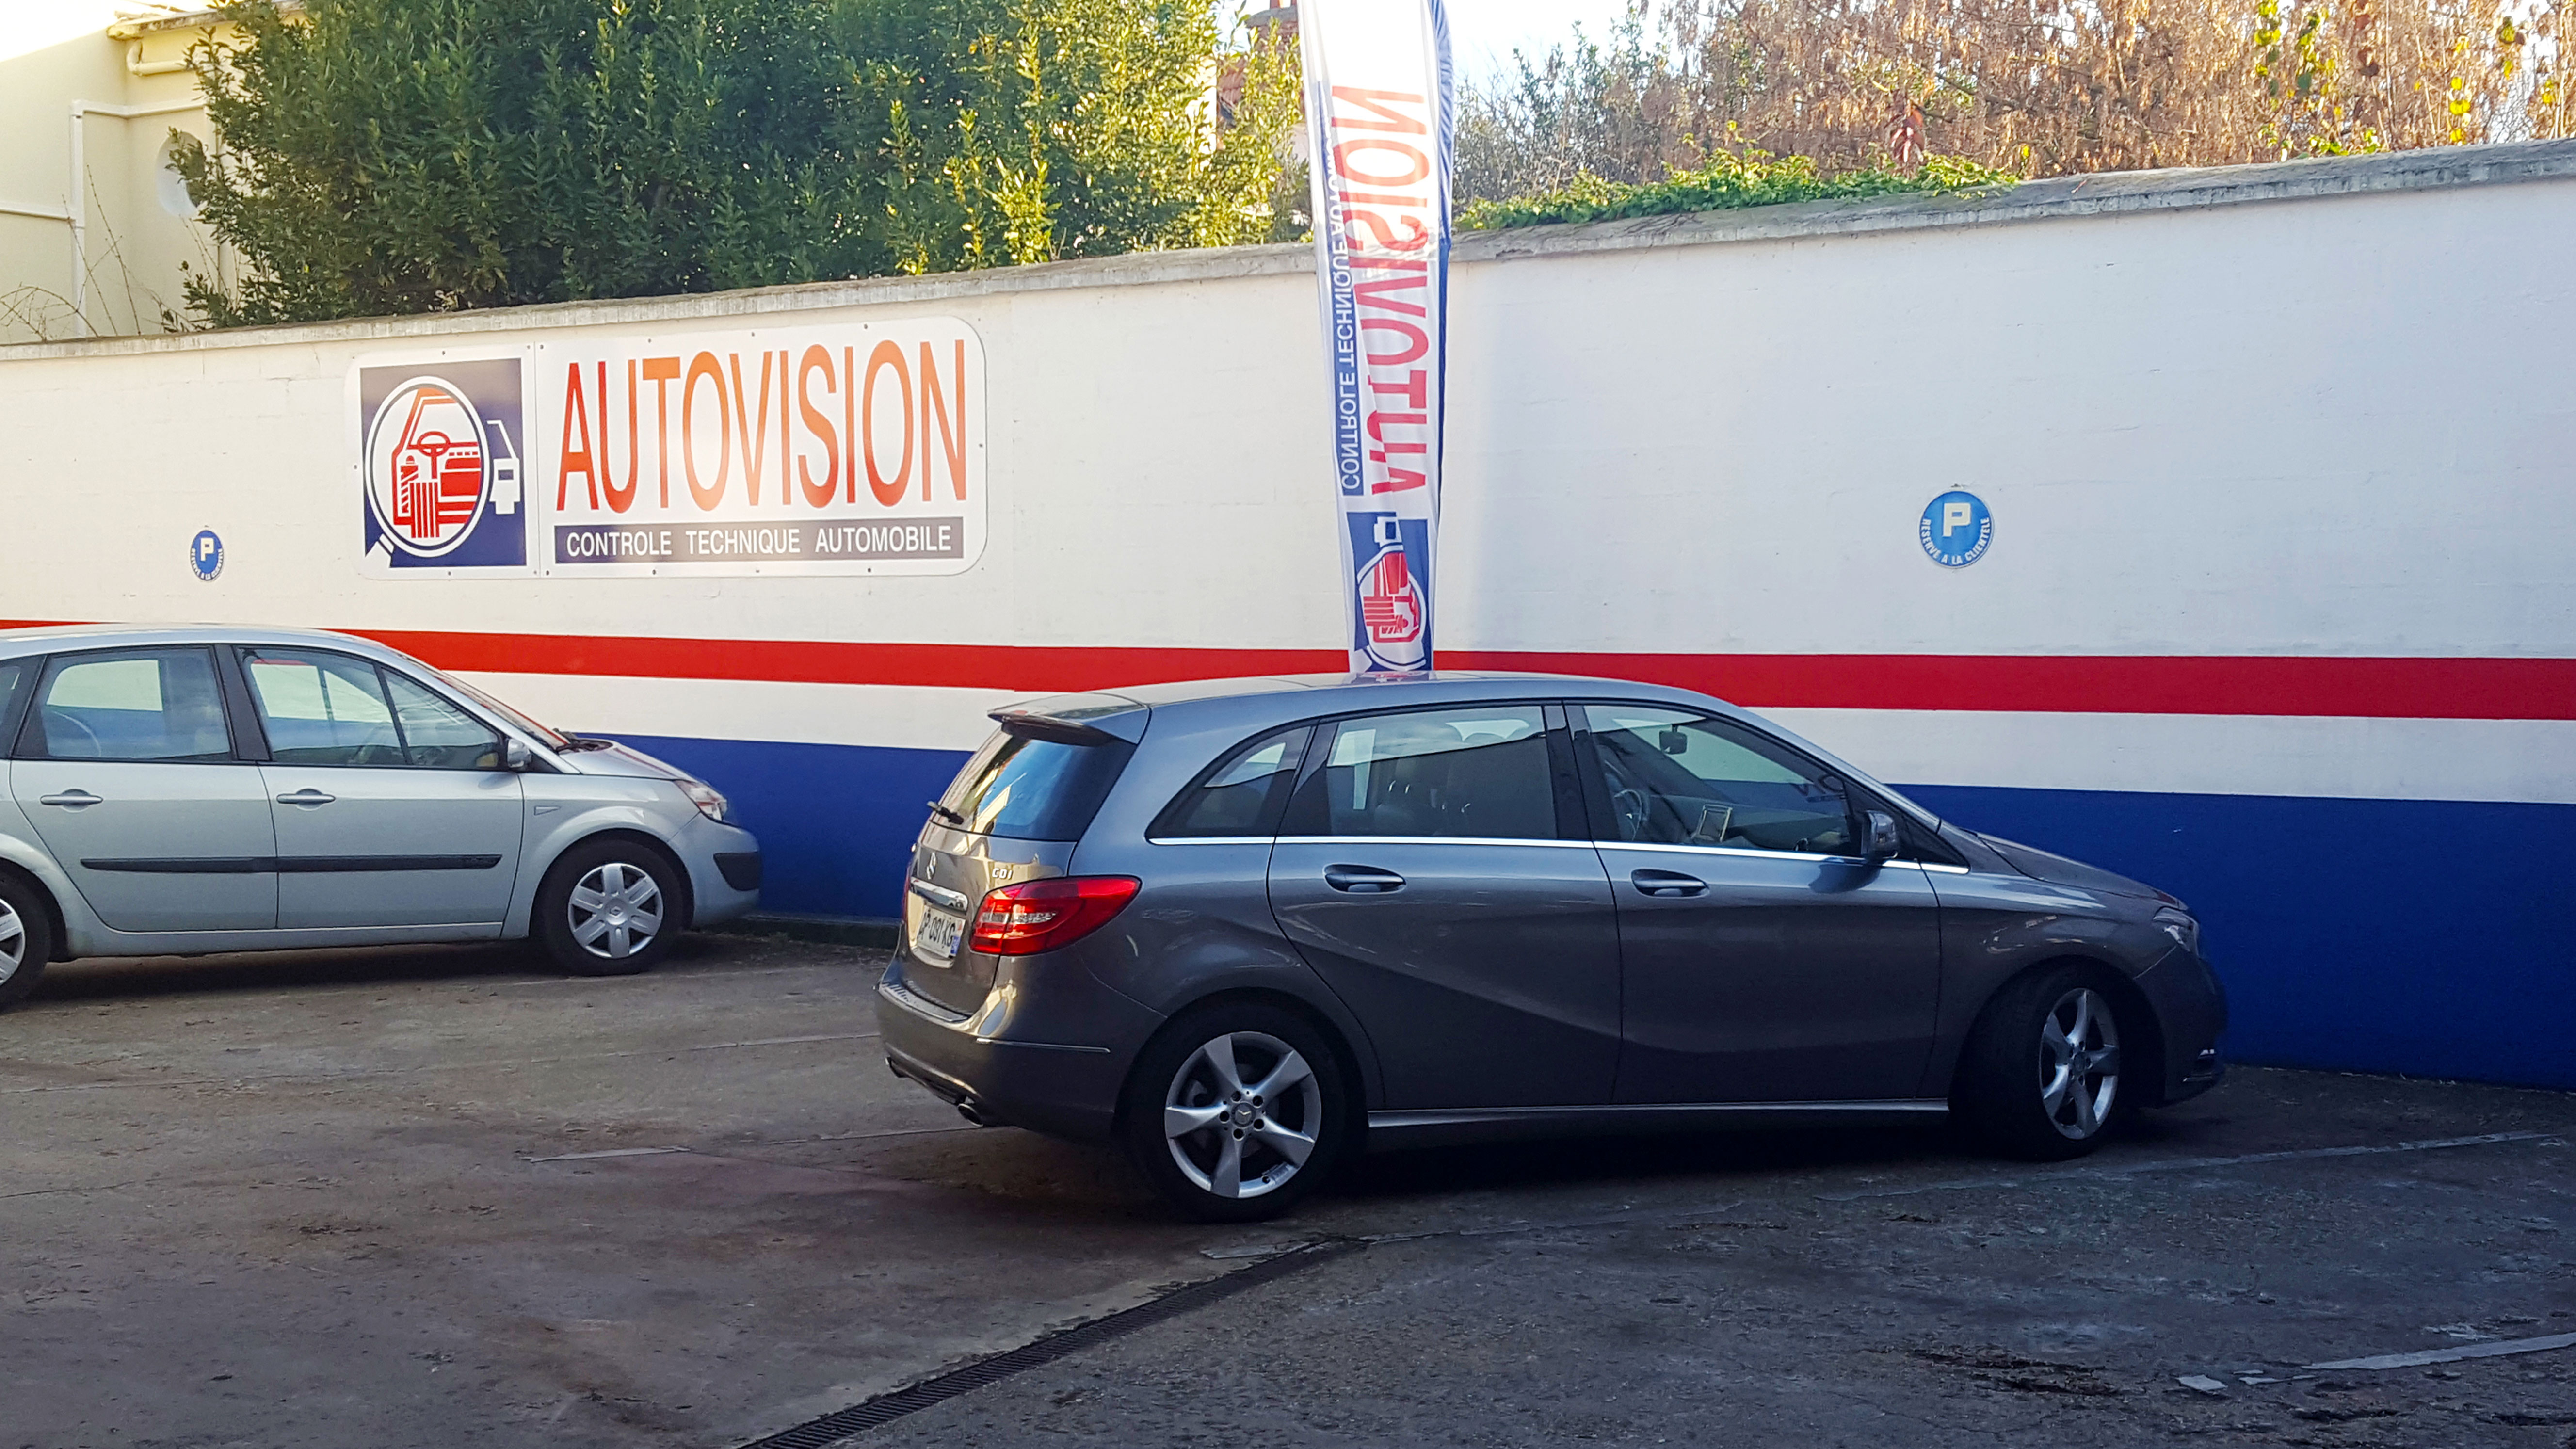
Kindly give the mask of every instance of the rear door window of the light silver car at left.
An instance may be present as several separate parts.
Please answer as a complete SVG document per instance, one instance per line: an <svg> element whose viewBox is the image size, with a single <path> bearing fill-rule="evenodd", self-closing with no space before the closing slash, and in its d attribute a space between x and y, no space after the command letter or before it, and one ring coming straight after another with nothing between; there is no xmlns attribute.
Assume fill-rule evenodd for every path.
<svg viewBox="0 0 2576 1449"><path fill-rule="evenodd" d="M28 722L57 761L232 758L224 701L206 650L129 650L57 660Z"/></svg>

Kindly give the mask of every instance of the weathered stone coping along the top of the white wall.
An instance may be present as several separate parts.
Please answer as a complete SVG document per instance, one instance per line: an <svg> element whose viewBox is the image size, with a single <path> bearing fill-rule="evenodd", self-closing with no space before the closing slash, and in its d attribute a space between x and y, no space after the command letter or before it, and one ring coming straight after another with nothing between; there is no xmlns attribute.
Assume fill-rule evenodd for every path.
<svg viewBox="0 0 2576 1449"><path fill-rule="evenodd" d="M1991 193L1906 193L1860 201L1798 201L1739 211L1687 211L1672 217L1633 217L1564 227L1515 227L1502 232L1461 232L1453 260L1507 263L1561 255L1587 255L1636 248L1690 248L1726 242L1767 242L1795 237L1855 237L1880 232L1922 232L1947 227L2002 227L2130 211L2187 211L2244 206L2259 201L2311 201L2331 196L2375 196L2393 191L2439 191L2458 186L2499 186L2519 180L2576 180L2576 139L2506 142L2483 147L2434 147L2367 157L2316 157L2267 165L2120 170L2025 180ZM278 327L232 327L222 333L175 333L142 338L85 338L64 343L0 345L0 364L118 356L204 348L312 345L335 340L397 340L420 335L515 333L523 327L595 327L636 322L696 322L721 317L778 320L793 312L835 307L935 304L953 297L1005 297L1020 291L1069 291L1087 286L1144 286L1162 281L1231 281L1249 276L1293 276L1314 271L1314 248L1278 242L1257 248L1200 248L1170 253L1128 253L1115 258L1059 260L989 271L948 271L930 276L871 276L855 281L811 281L796 286L757 286L742 291L703 291L685 297L626 297L603 302L549 302L533 307L489 307L474 312L425 312L410 317L358 317L345 322L291 322Z"/></svg>

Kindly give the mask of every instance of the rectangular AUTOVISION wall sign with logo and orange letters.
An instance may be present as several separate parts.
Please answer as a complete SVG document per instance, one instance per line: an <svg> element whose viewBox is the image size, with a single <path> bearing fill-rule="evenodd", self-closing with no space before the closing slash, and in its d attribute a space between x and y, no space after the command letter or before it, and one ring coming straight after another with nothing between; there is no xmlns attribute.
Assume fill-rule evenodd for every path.
<svg viewBox="0 0 2576 1449"><path fill-rule="evenodd" d="M920 317L361 358L366 572L938 575L984 552L984 345Z"/></svg>

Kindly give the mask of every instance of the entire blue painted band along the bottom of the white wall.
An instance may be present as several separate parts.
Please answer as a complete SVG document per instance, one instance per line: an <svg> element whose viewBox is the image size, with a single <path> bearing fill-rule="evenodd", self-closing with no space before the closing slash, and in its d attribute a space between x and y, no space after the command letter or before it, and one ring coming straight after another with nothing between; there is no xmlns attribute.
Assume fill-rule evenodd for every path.
<svg viewBox="0 0 2576 1449"><path fill-rule="evenodd" d="M768 910L899 915L963 750L618 735L716 784ZM2576 1088L2576 804L1904 786L1929 810L2192 905L2244 1062Z"/></svg>

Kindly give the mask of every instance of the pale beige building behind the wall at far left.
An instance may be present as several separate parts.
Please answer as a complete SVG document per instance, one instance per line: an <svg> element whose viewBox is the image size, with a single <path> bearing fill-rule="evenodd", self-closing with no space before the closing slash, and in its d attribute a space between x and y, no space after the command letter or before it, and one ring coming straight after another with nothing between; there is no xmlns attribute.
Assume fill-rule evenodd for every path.
<svg viewBox="0 0 2576 1449"><path fill-rule="evenodd" d="M229 281L170 170L173 129L211 137L188 49L201 8L0 10L0 343L165 333L180 263Z"/></svg>

